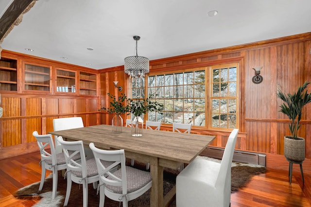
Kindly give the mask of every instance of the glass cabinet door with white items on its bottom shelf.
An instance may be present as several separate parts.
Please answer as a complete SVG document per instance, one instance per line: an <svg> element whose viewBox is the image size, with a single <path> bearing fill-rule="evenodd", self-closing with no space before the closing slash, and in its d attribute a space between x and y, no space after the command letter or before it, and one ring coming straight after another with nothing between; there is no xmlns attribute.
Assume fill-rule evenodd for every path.
<svg viewBox="0 0 311 207"><path fill-rule="evenodd" d="M56 68L56 92L76 93L76 72Z"/></svg>

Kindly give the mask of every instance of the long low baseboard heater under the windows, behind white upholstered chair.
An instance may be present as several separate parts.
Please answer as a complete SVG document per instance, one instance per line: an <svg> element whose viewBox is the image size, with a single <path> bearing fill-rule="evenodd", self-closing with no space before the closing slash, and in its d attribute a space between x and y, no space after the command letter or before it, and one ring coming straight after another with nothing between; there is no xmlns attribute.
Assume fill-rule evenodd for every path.
<svg viewBox="0 0 311 207"><path fill-rule="evenodd" d="M224 151L224 148L207 147L207 149L204 151L204 155L215 159L222 159ZM261 153L243 152L235 150L232 160L235 162L246 162L266 166L266 155Z"/></svg>

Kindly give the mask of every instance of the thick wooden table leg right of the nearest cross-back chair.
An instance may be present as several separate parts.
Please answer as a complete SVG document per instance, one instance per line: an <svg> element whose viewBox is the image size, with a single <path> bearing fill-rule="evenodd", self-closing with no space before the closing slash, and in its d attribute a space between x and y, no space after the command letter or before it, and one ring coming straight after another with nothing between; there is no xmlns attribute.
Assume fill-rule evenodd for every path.
<svg viewBox="0 0 311 207"><path fill-rule="evenodd" d="M150 207L163 206L163 167L159 166L157 158L150 159L152 187L150 191Z"/></svg>

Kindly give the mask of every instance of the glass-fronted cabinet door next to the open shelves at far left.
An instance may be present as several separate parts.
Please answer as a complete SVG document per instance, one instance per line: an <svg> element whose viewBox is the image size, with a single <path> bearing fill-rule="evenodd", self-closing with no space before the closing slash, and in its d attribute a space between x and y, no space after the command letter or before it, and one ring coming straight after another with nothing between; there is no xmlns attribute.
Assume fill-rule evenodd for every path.
<svg viewBox="0 0 311 207"><path fill-rule="evenodd" d="M51 66L23 64L24 90L51 92Z"/></svg>

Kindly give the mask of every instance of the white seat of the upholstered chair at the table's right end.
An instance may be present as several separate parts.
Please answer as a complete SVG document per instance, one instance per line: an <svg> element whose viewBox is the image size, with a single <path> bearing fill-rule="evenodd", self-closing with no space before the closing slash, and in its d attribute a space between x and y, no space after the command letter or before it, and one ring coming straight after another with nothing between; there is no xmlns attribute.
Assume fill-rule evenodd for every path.
<svg viewBox="0 0 311 207"><path fill-rule="evenodd" d="M194 159L177 177L179 179L190 179L215 186L219 170L220 163L206 159Z"/></svg>

